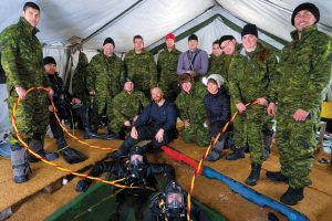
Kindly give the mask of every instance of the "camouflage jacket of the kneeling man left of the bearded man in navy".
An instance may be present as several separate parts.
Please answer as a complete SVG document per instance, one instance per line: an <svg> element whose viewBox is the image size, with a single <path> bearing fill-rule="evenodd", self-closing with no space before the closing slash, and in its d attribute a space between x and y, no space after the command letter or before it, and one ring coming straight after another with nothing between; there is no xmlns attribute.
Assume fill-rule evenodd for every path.
<svg viewBox="0 0 332 221"><path fill-rule="evenodd" d="M149 102L143 92L134 90L132 94L128 94L122 91L113 99L114 118L121 122L132 120L148 104Z"/></svg>

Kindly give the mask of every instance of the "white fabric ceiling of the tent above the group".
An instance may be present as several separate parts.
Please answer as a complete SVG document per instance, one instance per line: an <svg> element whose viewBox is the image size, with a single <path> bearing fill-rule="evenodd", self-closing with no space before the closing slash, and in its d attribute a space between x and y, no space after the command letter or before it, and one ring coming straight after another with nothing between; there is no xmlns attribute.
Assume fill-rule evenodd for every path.
<svg viewBox="0 0 332 221"><path fill-rule="evenodd" d="M210 13L214 6L230 18L234 23L243 25L256 23L259 29L282 40L289 41L291 11L304 0L37 0L41 7L39 38L41 42L64 45L72 36L85 39L110 21L110 25L101 30L84 43L84 49L101 49L105 38L112 36L117 52L126 52L133 48L132 38L142 34L145 45L153 48L163 40L167 32L180 34L196 25L198 18ZM17 22L24 0L1 0L0 31ZM332 1L313 0L321 10L321 29L332 35ZM133 7L131 10L128 10ZM216 7L215 7L216 8ZM216 12L216 9L212 9ZM224 10L224 9L225 10ZM220 10L221 9L221 10ZM128 11L127 11L128 10ZM125 12L125 13L124 13ZM218 13L218 12L217 12ZM121 17L120 17L121 15ZM226 15L225 15L226 17ZM203 49L210 49L210 40L229 31L222 20L209 23L197 33L201 36ZM221 22L221 23L220 23ZM187 29L185 29L187 27ZM221 30L218 30L221 29ZM234 33L234 32L229 32ZM210 34L209 38L207 38ZM237 33L235 33L237 35ZM179 42L180 43L180 42ZM206 48L206 46L207 48ZM276 48L276 44L272 44Z"/></svg>

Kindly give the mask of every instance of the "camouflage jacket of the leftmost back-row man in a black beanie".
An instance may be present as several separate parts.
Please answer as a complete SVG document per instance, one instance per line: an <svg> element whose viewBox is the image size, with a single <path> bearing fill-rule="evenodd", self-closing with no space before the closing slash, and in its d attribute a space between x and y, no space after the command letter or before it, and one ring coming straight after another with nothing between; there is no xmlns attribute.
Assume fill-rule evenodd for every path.
<svg viewBox="0 0 332 221"><path fill-rule="evenodd" d="M87 67L87 91L95 91L96 96L113 97L120 92L122 62L118 56L94 55Z"/></svg>

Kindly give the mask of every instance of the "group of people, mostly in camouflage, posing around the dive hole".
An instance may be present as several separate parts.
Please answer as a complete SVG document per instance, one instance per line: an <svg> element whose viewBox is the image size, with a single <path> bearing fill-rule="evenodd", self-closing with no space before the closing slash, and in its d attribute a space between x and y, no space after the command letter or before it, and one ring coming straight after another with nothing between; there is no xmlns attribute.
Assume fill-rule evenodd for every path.
<svg viewBox="0 0 332 221"><path fill-rule="evenodd" d="M49 96L54 97L43 65L56 65L56 62L53 59L43 63L42 48L35 36L39 17L39 7L27 2L19 22L1 32L1 64L8 75L10 112L18 97L24 99L15 115L20 135L37 152L53 160L58 156L43 150L48 98L40 91L27 95L28 88L44 86ZM169 33L157 63L144 49L141 35L133 38L134 49L123 61L114 53L113 39L106 38L103 50L89 64L82 55L77 70L85 75L73 77L83 87L74 85L74 95L80 91L86 95L80 96L94 98L93 109L84 110L92 112L89 123L84 123L86 138L110 138L97 134L102 116L106 115L108 133L125 139L110 157L125 156L138 141L152 139L142 147L145 152L167 145L177 136L179 116L184 123L180 131L184 141L207 146L229 120L230 113L238 112L232 129L219 139L215 150L220 154L226 140L231 138L234 150L227 159L235 160L243 158L243 150L249 147L251 171L246 183L253 186L260 178L264 143L271 143L276 115L281 171L268 171L267 177L289 185L280 198L282 202L298 203L303 199L303 188L311 183L317 122L331 82L331 36L318 31L319 20L320 11L312 3L294 9L291 23L295 30L279 62L274 52L259 41L255 24L243 27L241 44L232 35L215 41L210 57L198 49L197 35L188 38L188 50L181 53L175 48L175 35ZM207 88L201 84L204 76L208 80ZM253 101L253 105L246 106ZM81 102L90 101L72 99L71 105L82 108ZM14 133L10 144L13 179L24 182L29 178L25 149Z"/></svg>

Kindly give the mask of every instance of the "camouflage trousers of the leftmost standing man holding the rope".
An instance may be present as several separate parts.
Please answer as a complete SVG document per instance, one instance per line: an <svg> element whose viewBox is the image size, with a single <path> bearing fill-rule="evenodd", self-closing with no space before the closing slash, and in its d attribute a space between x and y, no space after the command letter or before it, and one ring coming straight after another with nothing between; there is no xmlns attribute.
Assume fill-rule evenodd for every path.
<svg viewBox="0 0 332 221"><path fill-rule="evenodd" d="M7 103L9 108L9 117L11 122L12 108L18 98L15 92L11 92ZM29 144L33 134L45 135L49 124L49 102L46 94L43 91L33 91L29 93L19 104L15 113L17 126L23 140ZM15 134L9 138L12 146L22 146Z"/></svg>

